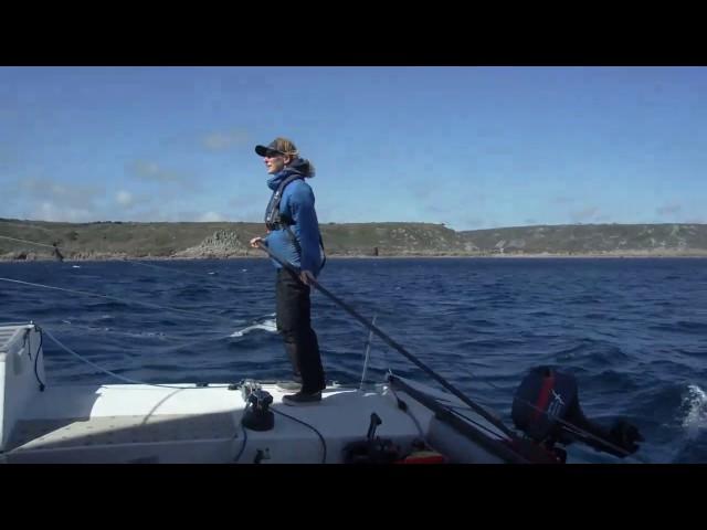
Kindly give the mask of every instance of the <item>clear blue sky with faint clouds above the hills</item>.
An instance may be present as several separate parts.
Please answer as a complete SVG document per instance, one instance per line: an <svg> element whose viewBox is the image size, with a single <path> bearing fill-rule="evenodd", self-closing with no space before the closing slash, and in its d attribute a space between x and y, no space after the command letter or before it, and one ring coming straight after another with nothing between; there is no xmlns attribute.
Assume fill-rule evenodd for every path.
<svg viewBox="0 0 707 530"><path fill-rule="evenodd" d="M276 136L323 223L707 223L706 67L0 67L0 216L260 222Z"/></svg>

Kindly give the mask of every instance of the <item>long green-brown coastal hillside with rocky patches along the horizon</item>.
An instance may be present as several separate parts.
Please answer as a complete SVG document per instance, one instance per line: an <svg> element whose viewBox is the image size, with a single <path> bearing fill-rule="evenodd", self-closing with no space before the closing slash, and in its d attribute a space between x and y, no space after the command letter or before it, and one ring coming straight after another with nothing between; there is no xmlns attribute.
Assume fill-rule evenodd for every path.
<svg viewBox="0 0 707 530"><path fill-rule="evenodd" d="M323 224L330 256L707 255L705 224L516 226L455 232L429 223ZM262 256L262 223L53 223L0 219L0 258ZM27 240L50 247L11 241Z"/></svg>

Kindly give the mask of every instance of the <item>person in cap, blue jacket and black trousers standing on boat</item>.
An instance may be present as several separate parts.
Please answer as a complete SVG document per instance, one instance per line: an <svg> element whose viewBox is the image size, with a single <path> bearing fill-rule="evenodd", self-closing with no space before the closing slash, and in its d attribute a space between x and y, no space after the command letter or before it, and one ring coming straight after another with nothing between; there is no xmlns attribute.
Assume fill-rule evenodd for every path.
<svg viewBox="0 0 707 530"><path fill-rule="evenodd" d="M277 261L277 330L282 333L302 389L285 395L288 405L317 403L326 388L317 335L312 329L312 282L324 266L319 223L314 208L314 193L305 179L315 174L309 160L299 157L295 145L286 138L276 138L268 146L256 146L272 176L267 186L273 190L265 211L265 237L253 237L251 246L264 244L276 256L298 271L283 267Z"/></svg>

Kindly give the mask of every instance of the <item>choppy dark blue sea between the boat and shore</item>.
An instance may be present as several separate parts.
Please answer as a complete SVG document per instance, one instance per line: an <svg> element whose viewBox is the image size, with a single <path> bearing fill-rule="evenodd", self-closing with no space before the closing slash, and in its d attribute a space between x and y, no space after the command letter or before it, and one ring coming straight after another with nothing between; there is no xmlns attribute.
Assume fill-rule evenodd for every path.
<svg viewBox="0 0 707 530"><path fill-rule="evenodd" d="M588 415L635 418L648 441L642 457L668 462L684 444L680 462L707 462L707 298L700 296L706 263L646 259L625 271L623 262L600 259L340 259L321 282L366 318L377 315L382 331L464 393L483 392L506 406L527 369L556 365L578 378ZM80 265L0 264L0 276L112 295L125 304L0 285L4 320L23 315L21 320L60 328L59 337L78 353L156 383L289 377L275 332L267 259L172 264L193 273L188 279L126 273L123 263ZM219 288L226 279L235 280L228 292ZM196 321L137 300L225 320ZM358 383L368 329L316 293L312 307L327 380ZM235 332L242 336L231 337ZM50 342L50 382L114 382ZM368 380L382 381L390 365L430 382L378 337L370 354Z"/></svg>

